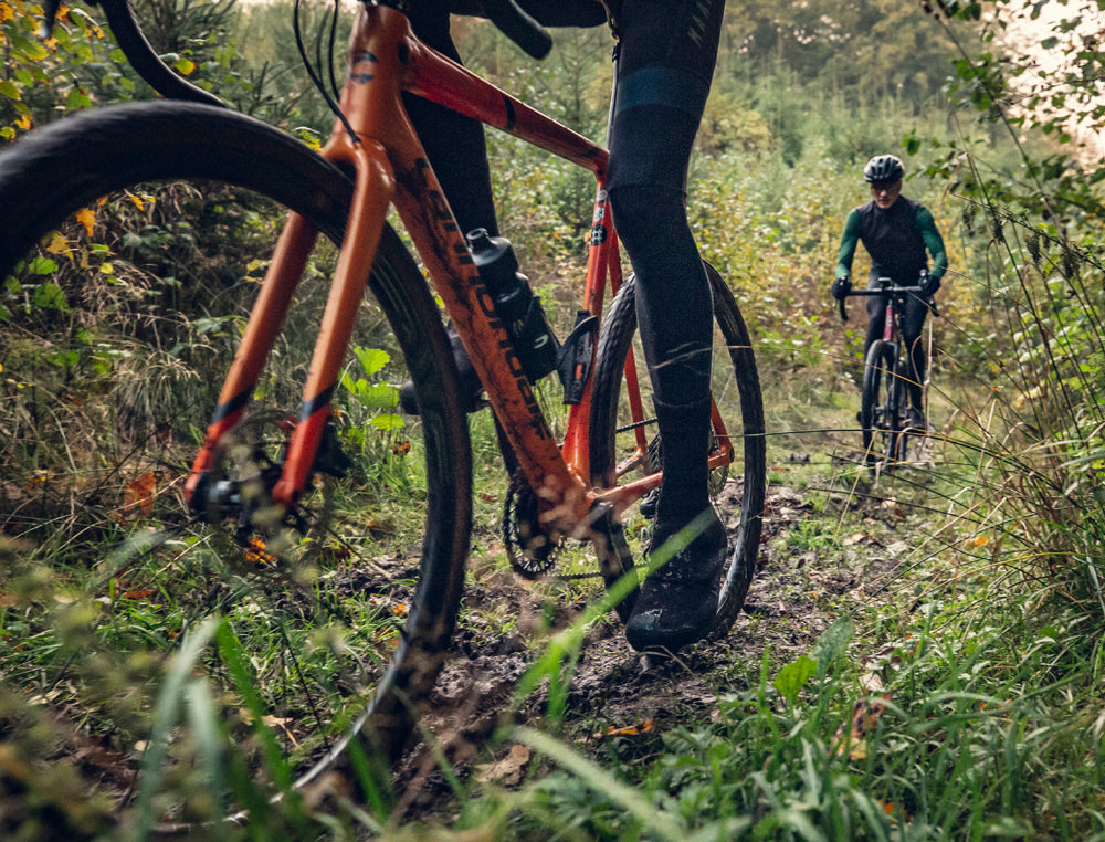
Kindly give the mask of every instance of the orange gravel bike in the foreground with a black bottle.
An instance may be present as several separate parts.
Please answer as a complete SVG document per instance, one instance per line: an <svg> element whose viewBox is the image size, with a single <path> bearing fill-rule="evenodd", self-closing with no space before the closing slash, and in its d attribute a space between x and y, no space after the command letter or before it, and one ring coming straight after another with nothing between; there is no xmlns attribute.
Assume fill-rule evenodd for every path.
<svg viewBox="0 0 1105 842"><path fill-rule="evenodd" d="M320 152L178 78L124 0L101 7L131 64L175 98L67 117L0 154L0 277L67 295L106 288L108 297L141 282L140 299L156 293L167 302L208 288L204 236L223 228L242 252L241 274L229 285L211 282L210 318L190 325L187 341L168 338L171 307L122 305L133 334L146 340L141 358L137 344L76 337L83 356L73 365L88 367L77 373L104 373L104 389L117 398L94 432L69 425L81 406L67 398L64 378L31 383L36 425L29 422L15 440L34 451L40 469L4 501L0 528L27 565L39 565L25 575L57 599L49 610L32 604L21 622L29 635L50 636L63 604L91 604L94 617L80 640L59 640L56 653L34 664L6 651L4 670L83 709L94 705L80 669L91 660L77 644L108 657L115 644L140 638L157 665L210 628L204 619L218 618L211 645L193 652L194 666L245 768L276 762L278 745L280 768L303 785L347 749L350 735L390 766L445 660L469 555L471 442L443 314L497 422L511 473L503 540L516 567L540 576L566 547L590 545L607 583L632 570L639 545L624 524L640 523L635 507L660 485L661 443L645 411L648 375L636 367L635 286L623 277L607 203L607 150L427 48L398 0L360 6L334 134ZM547 33L513 2L488 0L485 12L532 54L547 51ZM564 340L554 337L562 422L545 408L551 378L534 382L547 368L527 368L518 335L457 230L406 118L404 91L596 178L581 305ZM167 214L157 225L150 199ZM290 211L274 246L266 238L275 232L256 212L273 202ZM187 219L197 207L203 217ZM133 227L113 229L108 246L91 244L107 208L113 225L129 219ZM417 260L388 221L389 208ZM169 245L158 239L167 231ZM170 245L185 251L171 270L162 261ZM765 440L748 331L733 293L707 270L716 320L712 491L730 538L714 629L722 634L756 568ZM105 287L105 276L114 285ZM248 319L224 315L232 298L252 291ZM316 317L309 305L322 298ZM317 335L309 364L285 341L294 328ZM194 372L210 375L210 364L196 355L228 344L236 345L234 361L204 424L196 412L209 411L208 377ZM33 350L9 355L6 372L18 377ZM187 400L164 387L185 359ZM274 369L305 376L297 401ZM397 387L408 381L418 417L397 408ZM144 423L148 430L138 429ZM48 453L32 440L56 446ZM360 459L351 459L358 449ZM373 484L381 512L388 495L419 501L420 529L389 522L386 512L358 518L355 495ZM129 540L104 559L98 547L120 533ZM379 535L408 551L372 556L364 548ZM136 691L136 708L152 706L155 672L136 681L154 688ZM136 714L112 717L101 708L97 717L104 728L130 733ZM198 749L173 740L164 750L181 752L177 768L187 768L187 752Z"/></svg>

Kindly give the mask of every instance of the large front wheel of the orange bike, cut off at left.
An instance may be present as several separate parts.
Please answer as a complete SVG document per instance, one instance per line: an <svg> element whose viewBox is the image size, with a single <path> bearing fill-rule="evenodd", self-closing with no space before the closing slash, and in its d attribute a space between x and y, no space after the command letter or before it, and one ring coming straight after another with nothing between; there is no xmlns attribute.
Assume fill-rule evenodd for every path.
<svg viewBox="0 0 1105 842"><path fill-rule="evenodd" d="M171 788L157 803L173 818L263 803L354 722L393 761L454 627L467 424L439 311L390 228L303 504L251 534L200 524L183 501L282 209L340 242L351 194L296 140L200 105L67 118L0 154L0 554L12 559L0 675L126 758L126 773L143 750L164 752L148 771ZM252 471L263 492L278 467L336 254L316 246L252 396L261 411L220 453L223 478ZM396 408L407 379L419 419ZM421 525L399 496L424 511ZM201 629L210 642L173 688L169 656ZM158 720L173 692L190 713ZM172 739L154 745L159 727ZM229 789L212 792L219 781Z"/></svg>

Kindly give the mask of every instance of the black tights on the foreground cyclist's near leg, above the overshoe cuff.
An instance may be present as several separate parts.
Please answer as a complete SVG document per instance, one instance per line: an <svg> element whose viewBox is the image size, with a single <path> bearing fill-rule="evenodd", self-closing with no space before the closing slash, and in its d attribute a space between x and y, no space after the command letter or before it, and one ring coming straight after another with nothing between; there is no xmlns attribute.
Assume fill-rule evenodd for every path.
<svg viewBox="0 0 1105 842"><path fill-rule="evenodd" d="M717 59L724 0L624 0L610 203L638 278L656 398L709 394L713 305L686 218L687 162Z"/></svg>

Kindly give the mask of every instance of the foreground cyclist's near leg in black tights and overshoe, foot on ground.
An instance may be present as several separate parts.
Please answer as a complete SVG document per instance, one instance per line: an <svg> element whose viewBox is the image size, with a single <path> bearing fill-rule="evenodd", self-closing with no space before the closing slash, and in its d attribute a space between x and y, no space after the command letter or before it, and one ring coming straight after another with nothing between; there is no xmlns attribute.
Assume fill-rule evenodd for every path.
<svg viewBox="0 0 1105 842"><path fill-rule="evenodd" d="M641 337L664 442L653 548L708 513L696 523L702 531L694 543L645 582L627 627L638 648L674 648L705 633L725 555L725 529L706 491L711 293L685 209L686 167L723 11L723 0L627 0L622 7L610 200L638 277Z"/></svg>

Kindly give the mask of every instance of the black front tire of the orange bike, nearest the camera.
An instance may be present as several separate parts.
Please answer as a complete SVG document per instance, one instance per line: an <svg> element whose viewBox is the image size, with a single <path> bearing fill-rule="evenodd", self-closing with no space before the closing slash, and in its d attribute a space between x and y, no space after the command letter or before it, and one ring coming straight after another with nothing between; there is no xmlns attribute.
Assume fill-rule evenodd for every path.
<svg viewBox="0 0 1105 842"><path fill-rule="evenodd" d="M149 182L172 183L193 179L201 180L198 188L200 191L208 190L209 182L218 189L229 185L253 191L302 214L327 238L340 243L352 196L352 182L346 173L303 144L252 118L203 105L146 103L62 119L30 134L0 154L0 231L3 231L0 236L0 278L13 272L22 272L24 283L49 280L50 275L25 274L31 264L24 259L35 254L40 240L71 219L76 211L96 208L101 197L125 190L128 191L125 196L131 197L137 204L140 203L137 197L144 196L145 186ZM123 204L126 204L125 199ZM127 209L134 210L129 207ZM72 223L71 229L76 232L82 230ZM140 241L146 230L139 227L136 231L134 236ZM76 239L80 235L71 233L67 242L73 243ZM117 244L112 245L114 249ZM67 259L65 253L40 249L38 255L60 264L66 272L80 271L75 259ZM117 262L122 261L120 256L115 256ZM269 255L259 253L255 256L267 259ZM35 272L42 271L42 260L33 265L38 267ZM60 275L59 283L63 283ZM183 283L187 283L187 278ZM73 294L82 292L80 286L74 287L70 281L64 284ZM306 282L301 288L303 286L306 286ZM325 280L322 286L325 288ZM418 539L420 558L414 573L417 583L404 585L406 590L399 591L410 594L409 602L400 604L398 598L389 598L387 607L380 609L385 612L393 610L397 615L400 609L406 611L406 622L391 618L397 624L401 624L401 631L392 641L394 649L389 652L392 643L385 641L373 649L371 657L365 652L354 652L351 662L360 663L360 666L348 677L335 677L334 685L337 691L361 699L355 711L343 715L351 720L362 711L359 714L366 720L362 734L370 736L376 760L383 760L390 768L409 743L414 723L413 708L429 693L441 669L455 624L469 550L472 465L467 423L457 400L455 366L438 307L417 265L390 227L385 230L369 287L371 298L382 314L379 322L383 326L380 328L378 325L376 329L387 334L390 325L390 334L398 346L396 354L401 356L409 369L408 376L413 379L420 396L421 418L417 420L417 428L421 431L421 446L418 452L424 463L420 470L412 469L412 475L420 477L420 484L424 483L424 488L419 493L425 495L425 520ZM234 292L239 290L241 285L234 287ZM211 302L214 315L218 315L218 306L219 302ZM4 364L11 375L19 376L18 366L13 367L13 356L7 357ZM305 365L302 368L305 369ZM221 380L222 373L211 371L210 378ZM302 370L299 373L302 375ZM397 373L394 378L398 380L402 376ZM40 391L44 396L48 390L43 388ZM36 409L43 409L41 402ZM56 408L46 406L44 409L54 412L55 417L60 414ZM213 403L202 411L209 413L211 409ZM288 409L294 410L295 406ZM76 445L65 439L64 430L59 430L59 433L57 450L70 448L72 456ZM397 441L394 453L388 454L388 459L398 461L403 457L398 450L400 443ZM403 446L409 449L409 442ZM194 453L194 445L190 446L190 451ZM80 459L81 453L76 453L76 456ZM173 467L179 471L183 466L187 472L188 461L190 456L187 461L175 463ZM72 460L70 462L72 464ZM164 472L165 469L166 465L161 463L156 470ZM72 478L65 490L70 501L66 504L69 509L88 512L98 506L104 499L103 490L108 484L120 486L126 482L120 471L116 470L114 473L115 475L107 471L106 475L97 474L95 491L91 487L88 475ZM423 475L424 480L421 478ZM9 478L14 481L13 477ZM181 480L180 476L173 476L170 487L179 487ZM177 504L181 503L180 496L178 493ZM48 514L44 507L39 507L41 501L30 499L30 493L21 492L8 497L9 499L0 501L3 503L0 507L0 537L6 536L8 541L13 543L12 546L18 546L28 557L39 555L40 546L51 544L57 551L52 558L45 559L45 562L63 564L73 569L97 564L101 560L97 552L101 558L107 555L102 547L97 549L83 541L77 544L75 537L59 544L56 524L60 515L54 511ZM180 507L177 506L178 509ZM109 508L109 505L104 508ZM185 519L178 512L178 523L172 528L179 528L180 522ZM93 531L108 534L108 527L110 524L104 518L102 524L82 525L80 530L83 537L87 537ZM190 540L196 541L189 545L191 547L207 547L203 538ZM65 558L66 555L69 558ZM318 581L296 582L292 590L280 591L272 603L273 611L281 612L281 634L290 632L297 615L313 615L312 611L320 602L326 606L341 602L343 608L336 609L337 621L355 631L359 614L346 607L346 600L350 597L350 590L357 590L356 582L364 581L362 572L356 569L356 562L351 566L347 562L341 578L347 578L351 585L345 586L340 592L326 591L322 597L318 594L324 587L323 582L327 580L326 572L320 573ZM4 576L7 578L9 575ZM213 587L218 590L219 582L214 582ZM265 585L261 590L270 587L278 588ZM223 589L231 590L225 585ZM246 592L249 600L261 599L260 593ZM303 594L303 606L291 610L287 606L299 600L297 593ZM102 594L91 596L103 600ZM114 607L125 603L126 600L116 598L110 604ZM210 608L211 604L214 604L213 609ZM239 609L232 604L224 593L218 600L207 603L208 607L203 610L215 612L222 609L230 612L228 617L238 617L233 612ZM43 618L43 622L48 620L49 618ZM103 629L107 624L109 623L101 621L98 628ZM328 628L330 627L320 625L318 633L322 634ZM171 651L172 642L165 641L165 648ZM4 657L6 669L9 671L13 665L10 654L9 652ZM306 657L303 652L296 651L291 651L285 656L290 662ZM334 654L333 659L336 661L339 656L340 652ZM369 687L364 682L369 675L373 657L379 661L380 666L376 673L378 677L375 686ZM74 661L76 659L70 656L66 663L72 664ZM221 674L222 667L218 666L218 661L217 654L203 657L206 665ZM35 670L44 674L52 667L60 670L62 666L36 664ZM57 681L63 681L63 677L59 676ZM326 724L337 729L337 719ZM282 723L274 726L274 730L285 727L288 726ZM291 727L294 728L294 724ZM334 751L334 747L338 745L335 743L337 739L337 734L330 735L329 750ZM290 740L291 743L294 740ZM319 748L313 756L301 758L299 765L295 767L296 773L305 777L309 773L309 768L317 769L323 751Z"/></svg>

